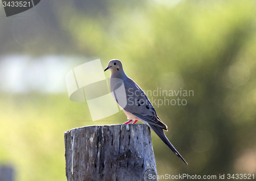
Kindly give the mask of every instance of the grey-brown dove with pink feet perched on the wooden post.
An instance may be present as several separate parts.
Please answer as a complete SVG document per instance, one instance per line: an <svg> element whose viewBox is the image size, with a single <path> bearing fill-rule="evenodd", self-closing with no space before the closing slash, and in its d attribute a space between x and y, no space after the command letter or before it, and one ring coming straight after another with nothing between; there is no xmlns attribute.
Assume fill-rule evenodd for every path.
<svg viewBox="0 0 256 181"><path fill-rule="evenodd" d="M122 107L123 112L129 119L129 121L123 124L129 124L134 121L141 121L148 125L159 138L183 161L185 164L187 162L182 158L181 154L175 149L175 147L167 139L163 131L167 131L167 126L164 124L160 118L157 116L156 110L151 104L150 100L147 98L144 91L130 78L124 71L120 60L113 59L109 62L108 67L104 71L110 70L110 90L113 98L117 101L117 104ZM125 99L126 103L124 106L120 102L120 98L113 93L116 92L121 85L125 89ZM120 96L119 96L120 97ZM187 164L188 165L188 164Z"/></svg>

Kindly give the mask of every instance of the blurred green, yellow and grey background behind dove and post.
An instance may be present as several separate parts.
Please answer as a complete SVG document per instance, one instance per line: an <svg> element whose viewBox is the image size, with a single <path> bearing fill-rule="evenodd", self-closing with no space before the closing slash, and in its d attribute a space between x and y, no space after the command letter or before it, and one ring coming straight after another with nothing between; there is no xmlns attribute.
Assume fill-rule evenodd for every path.
<svg viewBox="0 0 256 181"><path fill-rule="evenodd" d="M178 96L185 106L154 105L188 162L152 133L159 175L256 174L255 9L252 0L42 0L5 17L1 6L0 165L17 181L66 180L65 131L126 121L119 112L93 122L86 103L69 100L66 73L100 58L102 69L121 60L143 90L194 91Z"/></svg>

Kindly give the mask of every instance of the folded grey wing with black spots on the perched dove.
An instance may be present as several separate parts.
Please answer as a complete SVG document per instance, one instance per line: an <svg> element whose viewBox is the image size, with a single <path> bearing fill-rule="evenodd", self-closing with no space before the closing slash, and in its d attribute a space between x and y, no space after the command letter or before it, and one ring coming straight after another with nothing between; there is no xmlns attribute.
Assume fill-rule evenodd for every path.
<svg viewBox="0 0 256 181"><path fill-rule="evenodd" d="M167 126L157 116L153 105L144 91L132 79L126 79L123 83L127 99L127 105L123 109L144 122L161 127L167 131Z"/></svg>

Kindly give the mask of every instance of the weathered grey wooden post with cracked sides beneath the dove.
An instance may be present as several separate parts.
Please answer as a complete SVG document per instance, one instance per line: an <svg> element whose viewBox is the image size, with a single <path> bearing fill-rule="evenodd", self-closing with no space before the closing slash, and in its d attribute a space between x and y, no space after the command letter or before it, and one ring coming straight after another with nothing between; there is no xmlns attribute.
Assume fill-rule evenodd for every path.
<svg viewBox="0 0 256 181"><path fill-rule="evenodd" d="M145 124L95 125L65 132L68 181L157 180L151 131Z"/></svg>

